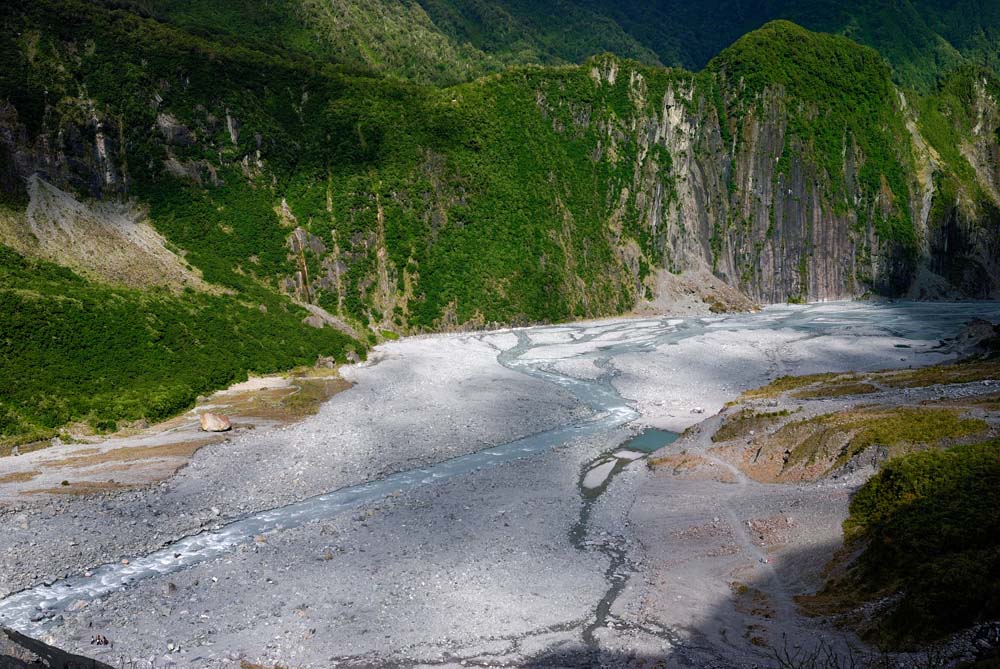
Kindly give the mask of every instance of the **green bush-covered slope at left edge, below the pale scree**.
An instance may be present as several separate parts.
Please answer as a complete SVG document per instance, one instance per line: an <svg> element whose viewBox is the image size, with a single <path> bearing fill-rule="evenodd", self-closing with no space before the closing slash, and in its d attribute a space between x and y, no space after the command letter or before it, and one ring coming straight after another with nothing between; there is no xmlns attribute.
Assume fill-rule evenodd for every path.
<svg viewBox="0 0 1000 669"><path fill-rule="evenodd" d="M0 246L0 445L69 422L162 420L206 391L360 347L275 297L94 285ZM363 351L360 351L362 352Z"/></svg>

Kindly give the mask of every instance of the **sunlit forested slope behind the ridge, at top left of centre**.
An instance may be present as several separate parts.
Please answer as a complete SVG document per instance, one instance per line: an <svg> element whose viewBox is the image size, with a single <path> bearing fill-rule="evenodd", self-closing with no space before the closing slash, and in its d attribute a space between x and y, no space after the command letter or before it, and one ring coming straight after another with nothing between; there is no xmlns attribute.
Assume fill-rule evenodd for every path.
<svg viewBox="0 0 1000 669"><path fill-rule="evenodd" d="M582 5L417 0L116 0L200 34L239 36L422 83L604 52L658 64L612 18ZM553 11L554 10L554 11ZM720 45L725 46L725 45Z"/></svg>

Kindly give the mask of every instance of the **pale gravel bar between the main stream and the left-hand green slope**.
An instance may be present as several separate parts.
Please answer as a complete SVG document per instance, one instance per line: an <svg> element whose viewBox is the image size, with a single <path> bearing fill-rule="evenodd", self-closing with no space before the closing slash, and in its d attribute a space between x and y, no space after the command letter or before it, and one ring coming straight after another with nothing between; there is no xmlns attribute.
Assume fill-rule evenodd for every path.
<svg viewBox="0 0 1000 669"><path fill-rule="evenodd" d="M133 557L226 519L506 443L590 412L500 366L477 339L386 344L345 368L357 385L293 426L203 449L168 483L0 506L0 595Z"/></svg>

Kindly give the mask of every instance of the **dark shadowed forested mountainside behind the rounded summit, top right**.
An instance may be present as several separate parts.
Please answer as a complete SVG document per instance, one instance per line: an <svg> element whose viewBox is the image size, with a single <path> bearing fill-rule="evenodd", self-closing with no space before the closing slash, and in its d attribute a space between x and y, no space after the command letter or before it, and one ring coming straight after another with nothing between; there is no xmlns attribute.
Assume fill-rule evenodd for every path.
<svg viewBox="0 0 1000 669"><path fill-rule="evenodd" d="M962 62L996 67L1000 63L1000 7L979 0L772 0L769 2L686 2L684 0L579 0L559 3L553 11L536 9L524 0L476 3L478 12L462 11L460 0L426 0L432 17L444 14L436 7L450 6L466 21L463 30L448 30L459 40L469 39L488 52L506 51L510 37L490 19L496 13L511 16L501 35L511 32L522 39L541 36L553 45L551 52L564 60L578 61L589 53L622 48L648 49L665 65L700 69L742 35L775 19L794 21L810 30L845 35L878 50L895 71L895 79L909 87L929 90ZM480 8L489 8L483 11ZM492 12L492 13L488 13ZM590 14L590 16L587 16ZM470 16L471 15L471 16ZM578 26L612 27L596 31L598 39ZM501 24L503 25L503 24ZM494 32L495 31L495 32ZM484 35L485 39L477 37ZM553 39L558 36L562 39ZM622 44L622 37L631 44ZM593 40L594 43L589 40Z"/></svg>

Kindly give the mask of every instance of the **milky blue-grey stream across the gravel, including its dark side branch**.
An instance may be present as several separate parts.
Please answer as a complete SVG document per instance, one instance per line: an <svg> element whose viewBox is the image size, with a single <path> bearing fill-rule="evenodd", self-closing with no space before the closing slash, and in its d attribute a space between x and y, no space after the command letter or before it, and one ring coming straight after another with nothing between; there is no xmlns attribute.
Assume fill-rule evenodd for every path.
<svg viewBox="0 0 1000 669"><path fill-rule="evenodd" d="M987 306L983 303L955 304L947 308L940 304L919 303L891 307L816 305L769 308L758 314L726 317L618 320L514 330L516 344L498 349L498 362L508 369L561 387L590 410L588 418L430 466L399 471L248 515L167 543L150 554L108 563L83 574L14 593L0 600L0 624L37 636L58 625L62 614L71 612L71 607L79 606L78 602L99 600L145 579L162 577L218 558L253 542L258 535L323 521L420 486L488 470L567 444L571 447L582 437L617 436L620 444L617 448L600 455L579 473L580 515L570 534L577 549L601 551L609 559L608 591L595 604L595 615L583 631L584 641L594 645L594 631L606 623L611 605L633 568L614 537L593 537L588 533L591 509L619 472L677 438L674 433L660 430L632 430L631 438L624 440L630 429L626 426L640 418L640 414L614 386L615 357L654 352L669 355L669 349L664 353L665 347L720 329L791 329L817 336L835 331L856 333L859 341L877 331L882 336L936 340L954 335L973 316L1000 317L1000 306L996 303ZM493 336L471 337L489 342ZM589 361L596 367L595 374L578 377L557 371L555 363L567 360Z"/></svg>

